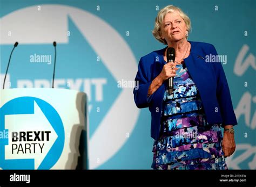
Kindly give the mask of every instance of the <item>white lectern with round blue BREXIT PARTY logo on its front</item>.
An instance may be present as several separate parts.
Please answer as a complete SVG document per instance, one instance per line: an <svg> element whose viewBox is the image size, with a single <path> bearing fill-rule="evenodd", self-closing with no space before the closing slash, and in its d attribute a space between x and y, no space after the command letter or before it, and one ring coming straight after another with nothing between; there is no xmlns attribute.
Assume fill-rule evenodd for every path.
<svg viewBox="0 0 256 187"><path fill-rule="evenodd" d="M86 106L75 90L1 90L0 168L87 169Z"/></svg>

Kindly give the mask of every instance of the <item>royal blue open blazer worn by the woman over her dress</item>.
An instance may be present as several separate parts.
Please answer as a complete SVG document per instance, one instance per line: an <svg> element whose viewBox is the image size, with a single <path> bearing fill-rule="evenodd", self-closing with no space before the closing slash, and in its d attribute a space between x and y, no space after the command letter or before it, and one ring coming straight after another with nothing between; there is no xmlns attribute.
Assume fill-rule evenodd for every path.
<svg viewBox="0 0 256 187"><path fill-rule="evenodd" d="M237 125L230 90L221 63L205 62L206 55L218 55L215 47L203 42L189 42L191 51L184 62L188 73L197 85L207 122L209 124L220 123L223 127L225 125ZM139 86L133 89L134 101L137 107L140 109L149 107L151 112L151 137L155 140L159 138L161 109L167 81L149 98L147 97L147 91L151 82L161 73L166 63L164 61L166 48L153 51L140 58L135 78Z"/></svg>

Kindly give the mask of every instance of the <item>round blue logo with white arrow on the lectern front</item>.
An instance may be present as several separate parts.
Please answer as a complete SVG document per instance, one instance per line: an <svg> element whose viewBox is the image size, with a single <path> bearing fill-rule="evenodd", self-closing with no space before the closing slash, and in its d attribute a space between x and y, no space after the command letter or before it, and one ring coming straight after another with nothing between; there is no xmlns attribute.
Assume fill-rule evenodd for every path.
<svg viewBox="0 0 256 187"><path fill-rule="evenodd" d="M19 97L0 109L0 168L51 169L64 147L57 111L35 97Z"/></svg>

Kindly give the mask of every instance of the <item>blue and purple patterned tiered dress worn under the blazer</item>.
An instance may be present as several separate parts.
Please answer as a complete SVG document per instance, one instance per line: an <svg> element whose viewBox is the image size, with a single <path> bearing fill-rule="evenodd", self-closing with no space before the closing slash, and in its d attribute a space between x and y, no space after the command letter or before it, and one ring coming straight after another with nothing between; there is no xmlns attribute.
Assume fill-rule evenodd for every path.
<svg viewBox="0 0 256 187"><path fill-rule="evenodd" d="M220 124L208 124L196 84L185 63L166 89L160 138L153 144L153 169L228 169L221 148ZM202 77L203 78L203 77Z"/></svg>

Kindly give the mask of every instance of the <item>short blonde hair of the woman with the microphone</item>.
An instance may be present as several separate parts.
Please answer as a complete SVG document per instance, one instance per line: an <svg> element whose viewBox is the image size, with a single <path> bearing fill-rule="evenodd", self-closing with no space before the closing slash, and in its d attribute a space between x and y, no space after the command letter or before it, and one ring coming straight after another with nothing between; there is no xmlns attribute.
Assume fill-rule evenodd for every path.
<svg viewBox="0 0 256 187"><path fill-rule="evenodd" d="M152 31L154 38L156 38L158 41L160 41L161 43L163 43L165 45L167 45L166 40L161 39L161 25L163 23L165 15L167 13L172 13L175 11L177 11L179 13L180 17L183 18L183 20L185 21L188 33L190 33L190 30L191 30L190 18L180 8L178 8L177 6L173 6L173 5L165 6L165 8L161 9L158 12L158 15L156 17L156 22L154 24L154 30Z"/></svg>

